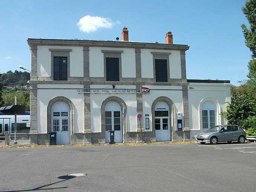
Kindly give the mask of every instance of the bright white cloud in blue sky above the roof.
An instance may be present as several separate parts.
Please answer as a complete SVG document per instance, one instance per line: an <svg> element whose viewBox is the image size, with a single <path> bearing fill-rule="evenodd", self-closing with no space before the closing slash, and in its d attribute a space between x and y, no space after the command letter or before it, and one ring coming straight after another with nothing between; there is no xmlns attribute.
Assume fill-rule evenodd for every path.
<svg viewBox="0 0 256 192"><path fill-rule="evenodd" d="M77 26L82 32L90 33L99 28L112 28L115 23L110 18L85 15L79 19Z"/></svg>

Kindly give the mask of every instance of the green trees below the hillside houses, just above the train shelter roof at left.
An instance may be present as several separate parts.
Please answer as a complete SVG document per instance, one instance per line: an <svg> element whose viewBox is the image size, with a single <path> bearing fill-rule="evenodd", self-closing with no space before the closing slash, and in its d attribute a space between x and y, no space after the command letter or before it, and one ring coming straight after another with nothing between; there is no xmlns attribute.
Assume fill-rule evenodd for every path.
<svg viewBox="0 0 256 192"><path fill-rule="evenodd" d="M3 90L3 105L14 104L15 96L17 96L18 104L25 105L25 111L30 111L30 91Z"/></svg>

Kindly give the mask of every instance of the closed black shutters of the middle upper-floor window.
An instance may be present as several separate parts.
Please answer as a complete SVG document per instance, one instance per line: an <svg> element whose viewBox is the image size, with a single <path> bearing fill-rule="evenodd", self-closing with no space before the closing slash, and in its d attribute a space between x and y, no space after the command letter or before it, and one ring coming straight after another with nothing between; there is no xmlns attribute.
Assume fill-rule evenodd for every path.
<svg viewBox="0 0 256 192"><path fill-rule="evenodd" d="M119 81L119 58L106 58L107 81Z"/></svg>

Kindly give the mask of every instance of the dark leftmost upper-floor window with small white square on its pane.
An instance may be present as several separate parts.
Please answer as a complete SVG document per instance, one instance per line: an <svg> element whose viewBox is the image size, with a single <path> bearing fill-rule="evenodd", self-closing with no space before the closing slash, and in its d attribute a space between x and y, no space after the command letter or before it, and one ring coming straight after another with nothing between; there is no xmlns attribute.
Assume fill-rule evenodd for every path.
<svg viewBox="0 0 256 192"><path fill-rule="evenodd" d="M67 57L53 57L53 80L67 81Z"/></svg>

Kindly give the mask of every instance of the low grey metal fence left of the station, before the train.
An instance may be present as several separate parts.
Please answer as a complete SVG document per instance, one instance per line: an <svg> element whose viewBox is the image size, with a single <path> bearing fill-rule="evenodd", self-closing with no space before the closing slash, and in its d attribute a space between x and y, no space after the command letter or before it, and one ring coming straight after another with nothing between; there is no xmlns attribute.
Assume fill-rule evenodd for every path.
<svg viewBox="0 0 256 192"><path fill-rule="evenodd" d="M27 145L29 141L29 131L8 131L9 145Z"/></svg>

